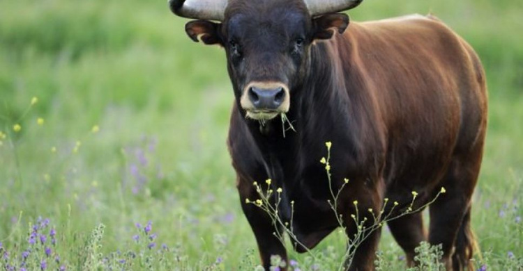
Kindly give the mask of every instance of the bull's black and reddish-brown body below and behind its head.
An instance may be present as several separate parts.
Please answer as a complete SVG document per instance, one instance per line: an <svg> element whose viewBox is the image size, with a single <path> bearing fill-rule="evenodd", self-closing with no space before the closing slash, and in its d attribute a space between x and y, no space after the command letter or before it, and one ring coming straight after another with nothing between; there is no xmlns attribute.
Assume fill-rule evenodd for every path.
<svg viewBox="0 0 523 271"><path fill-rule="evenodd" d="M310 54L308 76L292 92L287 113L296 133L287 131L284 138L280 122L260 127L246 122L236 106L232 110L229 150L260 249L283 253L271 240L274 229L266 214L244 202L259 198L253 181L271 178L273 188L283 188L283 221L290 220L294 200L293 231L308 248L339 226L319 163L326 141L333 143L333 189L350 180L338 213L354 213L354 200L363 211L379 210L386 197L405 207L411 191L418 192L420 206L445 187L446 195L431 206L430 240L452 246L457 232L446 233L446 221L469 215L487 120L483 69L471 47L441 22L414 16L351 23ZM414 252L425 233L408 220L390 226L400 245Z"/></svg>

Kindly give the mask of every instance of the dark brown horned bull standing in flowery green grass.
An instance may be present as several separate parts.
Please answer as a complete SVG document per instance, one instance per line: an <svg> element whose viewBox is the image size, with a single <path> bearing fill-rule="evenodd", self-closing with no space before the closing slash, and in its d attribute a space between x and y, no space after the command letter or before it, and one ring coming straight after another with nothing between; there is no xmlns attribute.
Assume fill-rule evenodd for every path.
<svg viewBox="0 0 523 271"><path fill-rule="evenodd" d="M293 218L298 252L339 227L324 165L331 141L333 190L348 236L351 214L379 211L384 199L404 211L430 205L430 229L421 213L388 223L414 264L423 240L441 244L447 270L471 270L471 196L487 125L485 74L473 49L434 17L414 15L351 23L341 10L361 0L171 0L177 15L198 19L192 40L220 44L236 103L229 151L245 216L261 261L287 259L273 235L282 231L246 199L258 199L253 181L282 188L278 215ZM211 22L219 21L219 22ZM347 26L349 26L347 28ZM346 29L347 28L347 29ZM284 131L285 114L295 131ZM285 135L285 136L284 136ZM275 198L271 197L274 201ZM291 202L294 201L294 211ZM386 209L386 212L390 209ZM293 213L294 212L294 213ZM348 270L372 270L379 231L355 252Z"/></svg>

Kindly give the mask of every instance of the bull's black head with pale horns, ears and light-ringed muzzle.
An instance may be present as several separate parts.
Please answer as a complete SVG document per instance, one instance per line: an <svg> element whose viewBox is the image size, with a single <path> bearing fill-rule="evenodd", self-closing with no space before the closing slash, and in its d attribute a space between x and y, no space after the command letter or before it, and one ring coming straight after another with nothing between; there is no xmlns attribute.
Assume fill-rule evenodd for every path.
<svg viewBox="0 0 523 271"><path fill-rule="evenodd" d="M287 113L291 94L307 73L310 47L343 33L341 10L363 0L169 0L195 42L220 44L227 54L236 101L246 117L270 120ZM209 20L218 21L211 22Z"/></svg>

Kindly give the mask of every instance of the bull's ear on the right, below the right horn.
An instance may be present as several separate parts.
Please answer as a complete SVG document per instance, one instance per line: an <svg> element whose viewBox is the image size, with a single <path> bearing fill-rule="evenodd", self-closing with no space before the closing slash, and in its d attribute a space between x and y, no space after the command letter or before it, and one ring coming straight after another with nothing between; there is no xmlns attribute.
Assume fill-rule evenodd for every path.
<svg viewBox="0 0 523 271"><path fill-rule="evenodd" d="M314 25L314 40L328 40L334 31L343 33L349 26L349 16L344 13L329 13L312 19Z"/></svg>

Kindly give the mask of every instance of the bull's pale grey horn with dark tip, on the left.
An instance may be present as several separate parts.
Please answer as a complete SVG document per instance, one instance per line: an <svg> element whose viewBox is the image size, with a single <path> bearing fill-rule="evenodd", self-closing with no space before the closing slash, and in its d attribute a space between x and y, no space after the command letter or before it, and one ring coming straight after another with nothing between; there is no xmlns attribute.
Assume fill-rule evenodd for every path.
<svg viewBox="0 0 523 271"><path fill-rule="evenodd" d="M180 17L223 21L227 0L169 0L169 7Z"/></svg>

